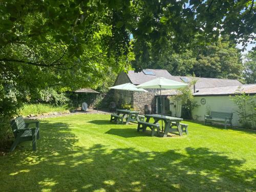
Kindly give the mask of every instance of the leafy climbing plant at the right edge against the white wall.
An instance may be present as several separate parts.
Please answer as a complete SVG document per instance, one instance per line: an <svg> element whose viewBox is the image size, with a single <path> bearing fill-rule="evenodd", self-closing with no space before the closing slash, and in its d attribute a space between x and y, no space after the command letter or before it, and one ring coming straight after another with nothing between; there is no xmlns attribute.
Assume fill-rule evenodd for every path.
<svg viewBox="0 0 256 192"><path fill-rule="evenodd" d="M243 92L241 88L237 90L235 96L230 97L233 103L238 107L236 112L239 117L239 122L243 127L247 129L256 129L256 103L253 98L249 94ZM256 96L254 96L254 99L256 99Z"/></svg>

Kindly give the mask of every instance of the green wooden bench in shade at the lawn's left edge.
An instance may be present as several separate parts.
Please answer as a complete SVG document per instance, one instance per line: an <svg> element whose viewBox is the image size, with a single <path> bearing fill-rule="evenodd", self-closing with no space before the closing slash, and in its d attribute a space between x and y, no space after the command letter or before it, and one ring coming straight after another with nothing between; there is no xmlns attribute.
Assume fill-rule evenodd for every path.
<svg viewBox="0 0 256 192"><path fill-rule="evenodd" d="M35 123L36 127L28 128L29 124ZM14 142L10 148L10 152L13 152L17 144L24 141L32 141L33 151L36 151L36 140L39 136L39 121L33 121L25 123L24 118L19 116L11 120L12 132L14 134Z"/></svg>

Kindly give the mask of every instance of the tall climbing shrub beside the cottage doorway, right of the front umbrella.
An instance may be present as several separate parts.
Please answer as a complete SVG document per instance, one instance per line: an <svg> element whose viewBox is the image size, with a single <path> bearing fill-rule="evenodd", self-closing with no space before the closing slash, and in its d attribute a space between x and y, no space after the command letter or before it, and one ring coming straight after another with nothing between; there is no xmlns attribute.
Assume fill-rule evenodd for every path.
<svg viewBox="0 0 256 192"><path fill-rule="evenodd" d="M181 105L182 117L186 119L192 119L192 110L198 106L198 104L193 101L194 96L192 90L195 83L196 79L193 79L189 82L188 86L177 89L176 95L167 97L170 101L177 103L177 105Z"/></svg>

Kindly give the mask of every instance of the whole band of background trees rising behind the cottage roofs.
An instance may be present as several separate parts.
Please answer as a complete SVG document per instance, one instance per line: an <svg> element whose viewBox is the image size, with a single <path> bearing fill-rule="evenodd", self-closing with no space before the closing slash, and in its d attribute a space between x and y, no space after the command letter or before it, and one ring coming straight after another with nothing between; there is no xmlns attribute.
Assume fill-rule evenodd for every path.
<svg viewBox="0 0 256 192"><path fill-rule="evenodd" d="M167 49L149 67L166 69L172 75L194 73L197 77L239 79L243 72L240 58L241 54L234 45L230 47L228 42L218 41L181 53Z"/></svg>

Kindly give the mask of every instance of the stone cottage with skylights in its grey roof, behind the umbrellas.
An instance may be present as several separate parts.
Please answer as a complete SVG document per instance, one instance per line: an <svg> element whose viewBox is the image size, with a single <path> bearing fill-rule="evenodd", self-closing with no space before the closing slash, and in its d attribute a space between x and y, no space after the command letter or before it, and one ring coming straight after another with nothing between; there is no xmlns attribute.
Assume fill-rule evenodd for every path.
<svg viewBox="0 0 256 192"><path fill-rule="evenodd" d="M120 73L114 86L123 83L133 83L135 85L144 83L146 81L155 79L157 77L165 77L167 79L180 81L188 83L191 80L191 77L186 76L172 76L166 70L156 70L156 69L146 69L141 72L135 73L134 71L129 71L128 73ZM195 92L200 93L201 89L206 88L218 88L218 87L226 87L226 86L241 86L242 83L238 80L233 79L217 79L217 78L200 78L197 77L197 82L195 85ZM140 111L140 113L144 113L144 106L151 105L152 113L161 113L160 108L160 91L159 90L147 90L147 93L142 92L129 92L129 91L121 91L115 90L114 97L115 102L117 104L121 103L130 103L132 107L136 111ZM174 111L172 109L172 103L170 104L167 96L172 95L173 90L164 90L162 91L162 103L163 103L163 114L167 114L169 111ZM178 114L177 114L178 115Z"/></svg>

